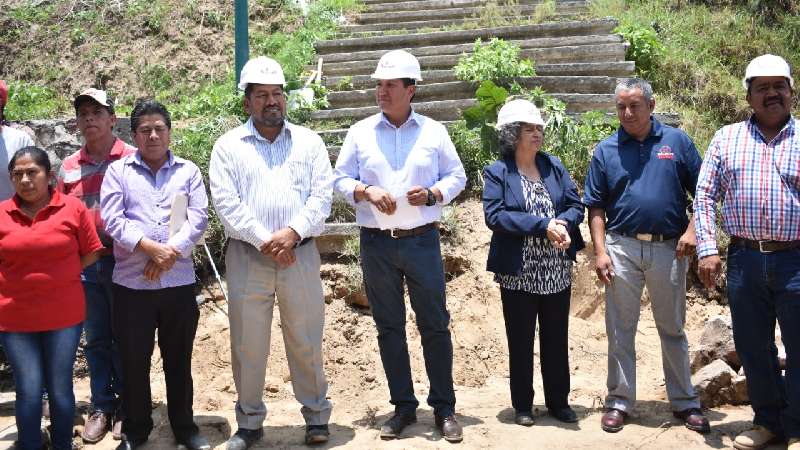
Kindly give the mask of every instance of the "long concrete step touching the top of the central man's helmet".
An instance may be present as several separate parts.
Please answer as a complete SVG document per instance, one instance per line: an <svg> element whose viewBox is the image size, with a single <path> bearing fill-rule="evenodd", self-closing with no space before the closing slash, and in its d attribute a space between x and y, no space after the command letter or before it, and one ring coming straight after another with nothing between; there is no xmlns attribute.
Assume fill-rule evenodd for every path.
<svg viewBox="0 0 800 450"><path fill-rule="evenodd" d="M618 34L601 34L588 36L564 36L557 38L533 38L533 39L513 39L508 42L517 45L520 49L527 48L552 48L578 45L597 45L597 44L620 44L624 42L622 36ZM474 43L451 44L451 45L431 45L427 47L408 47L403 50L413 54L417 58L435 55L461 55L472 53ZM336 63L346 61L363 61L380 59L386 50L367 50L363 52L351 53L332 53L322 57L324 63ZM310 66L309 66L310 67ZM315 66L316 67L316 66ZM324 73L324 72L323 72Z"/></svg>

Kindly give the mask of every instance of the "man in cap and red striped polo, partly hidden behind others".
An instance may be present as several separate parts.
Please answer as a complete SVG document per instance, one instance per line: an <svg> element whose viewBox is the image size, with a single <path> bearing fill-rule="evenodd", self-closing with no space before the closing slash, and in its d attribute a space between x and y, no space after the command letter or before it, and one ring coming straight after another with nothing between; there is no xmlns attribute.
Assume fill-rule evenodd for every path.
<svg viewBox="0 0 800 450"><path fill-rule="evenodd" d="M122 416L122 368L111 330L111 275L114 271L114 242L105 232L100 218L100 187L108 166L136 152L112 132L117 121L114 102L105 91L87 89L75 97L75 116L84 146L66 157L58 171L57 189L81 199L92 213L97 234L105 245L96 263L83 269L81 280L86 293L86 361L92 411L83 428L85 442L103 439L113 419L112 434L120 439Z"/></svg>

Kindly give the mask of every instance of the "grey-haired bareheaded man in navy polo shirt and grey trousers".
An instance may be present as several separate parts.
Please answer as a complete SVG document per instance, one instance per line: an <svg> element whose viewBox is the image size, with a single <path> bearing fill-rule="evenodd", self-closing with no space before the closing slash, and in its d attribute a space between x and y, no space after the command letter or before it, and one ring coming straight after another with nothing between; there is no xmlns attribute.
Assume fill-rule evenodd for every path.
<svg viewBox="0 0 800 450"><path fill-rule="evenodd" d="M673 413L690 430L708 432L683 331L686 271L696 245L687 193L694 195L700 155L686 133L652 117L647 81L624 80L614 96L621 127L597 145L584 193L595 270L606 285L608 410L601 425L621 430L636 401L634 340L647 286Z"/></svg>

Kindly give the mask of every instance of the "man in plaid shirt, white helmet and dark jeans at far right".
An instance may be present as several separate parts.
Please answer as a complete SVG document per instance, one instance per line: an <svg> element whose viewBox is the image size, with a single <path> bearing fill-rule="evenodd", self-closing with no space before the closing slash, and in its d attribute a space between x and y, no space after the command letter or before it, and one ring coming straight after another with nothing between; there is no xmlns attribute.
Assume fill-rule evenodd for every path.
<svg viewBox="0 0 800 450"><path fill-rule="evenodd" d="M727 293L736 352L747 376L754 428L738 449L788 439L800 449L800 123L791 115L789 64L762 55L743 80L753 115L717 131L706 152L697 197L698 272L713 287L721 270L716 203L730 235ZM781 376L775 321L786 347Z"/></svg>

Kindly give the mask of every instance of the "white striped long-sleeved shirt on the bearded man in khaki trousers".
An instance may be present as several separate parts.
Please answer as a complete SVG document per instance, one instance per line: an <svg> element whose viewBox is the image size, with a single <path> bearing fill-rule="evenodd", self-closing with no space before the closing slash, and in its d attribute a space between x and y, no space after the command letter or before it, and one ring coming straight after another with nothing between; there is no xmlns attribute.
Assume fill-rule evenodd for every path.
<svg viewBox="0 0 800 450"><path fill-rule="evenodd" d="M214 208L232 239L260 248L291 227L319 235L331 212L331 163L308 128L284 122L274 142L248 120L217 139L209 168Z"/></svg>

